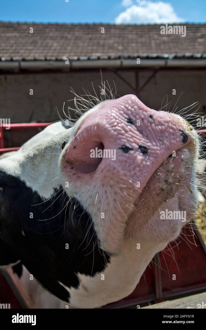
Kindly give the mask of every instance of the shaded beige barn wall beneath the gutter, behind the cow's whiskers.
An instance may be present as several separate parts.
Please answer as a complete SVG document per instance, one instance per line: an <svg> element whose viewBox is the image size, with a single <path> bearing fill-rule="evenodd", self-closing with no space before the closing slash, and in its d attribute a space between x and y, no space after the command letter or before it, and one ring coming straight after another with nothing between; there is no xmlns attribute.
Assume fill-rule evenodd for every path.
<svg viewBox="0 0 206 330"><path fill-rule="evenodd" d="M131 71L120 73L127 81L135 87L135 74ZM139 84L142 86L152 72L139 73ZM103 72L103 80L107 80L120 96L128 93L135 93L125 82L120 80L113 72ZM38 73L38 74L0 74L0 117L10 118L11 123L29 121L55 121L58 114L55 111L57 106L62 114L64 109L73 102L67 100L73 98L70 86L77 92L83 93L82 87L92 90L92 82L98 93L98 85L101 82L99 72L89 73ZM170 110L180 97L177 105L178 110L199 101L202 112L206 106L206 75L205 71L161 71L143 88L140 92L140 99L147 106L158 110L165 94L168 94L168 101L172 101ZM33 89L33 95L29 95L29 89ZM172 89L176 89L176 95L172 95ZM99 93L98 93L99 96ZM11 133L12 135L12 133ZM23 134L22 134L23 135ZM11 144L11 143L10 143Z"/></svg>

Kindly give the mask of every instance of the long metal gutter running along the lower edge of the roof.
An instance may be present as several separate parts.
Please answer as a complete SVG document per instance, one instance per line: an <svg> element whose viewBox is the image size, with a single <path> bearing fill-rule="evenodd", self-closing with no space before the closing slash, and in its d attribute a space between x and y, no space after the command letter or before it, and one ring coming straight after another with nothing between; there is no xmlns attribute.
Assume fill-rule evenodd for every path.
<svg viewBox="0 0 206 330"><path fill-rule="evenodd" d="M69 60L65 61L0 61L0 70L3 71L43 71L61 70L70 71L78 69L100 69L100 68L202 68L206 67L206 58L195 59L141 59L137 64L136 59L97 59L97 60Z"/></svg>

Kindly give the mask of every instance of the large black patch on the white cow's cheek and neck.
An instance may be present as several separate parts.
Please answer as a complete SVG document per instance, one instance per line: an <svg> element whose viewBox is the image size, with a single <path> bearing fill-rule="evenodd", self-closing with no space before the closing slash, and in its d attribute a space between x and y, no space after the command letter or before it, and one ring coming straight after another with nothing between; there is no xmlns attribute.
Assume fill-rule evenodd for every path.
<svg viewBox="0 0 206 330"><path fill-rule="evenodd" d="M91 216L77 199L70 199L59 187L54 197L42 203L37 192L2 171L0 186L4 188L0 242L8 247L6 264L20 259L30 274L64 301L69 301L69 293L58 281L77 288L76 273L103 272L110 257L99 248ZM0 261L5 262L1 254Z"/></svg>

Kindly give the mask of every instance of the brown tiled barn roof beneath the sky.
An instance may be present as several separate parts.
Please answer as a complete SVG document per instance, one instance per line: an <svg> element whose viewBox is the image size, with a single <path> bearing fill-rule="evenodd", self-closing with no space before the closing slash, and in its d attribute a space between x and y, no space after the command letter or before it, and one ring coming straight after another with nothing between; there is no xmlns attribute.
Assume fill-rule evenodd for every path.
<svg viewBox="0 0 206 330"><path fill-rule="evenodd" d="M0 59L206 57L206 24L184 24L185 37L161 35L161 25L0 22Z"/></svg>

